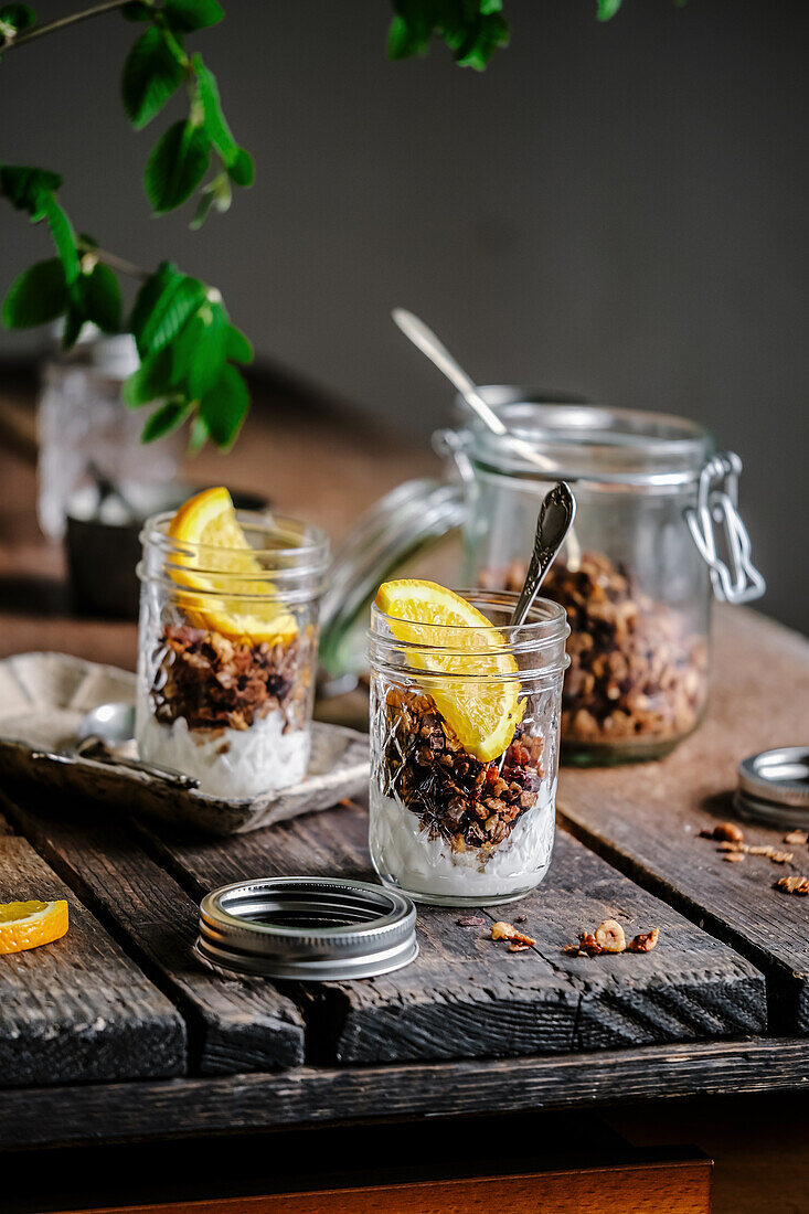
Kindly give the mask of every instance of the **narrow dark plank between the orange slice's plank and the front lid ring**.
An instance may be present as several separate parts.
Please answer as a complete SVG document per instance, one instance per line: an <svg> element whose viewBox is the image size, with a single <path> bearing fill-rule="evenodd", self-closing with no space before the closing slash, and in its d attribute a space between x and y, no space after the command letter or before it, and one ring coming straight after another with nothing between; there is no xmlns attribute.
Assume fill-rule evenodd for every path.
<svg viewBox="0 0 809 1214"><path fill-rule="evenodd" d="M192 1067L203 1074L294 1066L304 1061L304 1019L261 980L214 976L191 952L198 908L114 819L58 810L30 792L6 813L111 925L179 1005L188 1022Z"/></svg>

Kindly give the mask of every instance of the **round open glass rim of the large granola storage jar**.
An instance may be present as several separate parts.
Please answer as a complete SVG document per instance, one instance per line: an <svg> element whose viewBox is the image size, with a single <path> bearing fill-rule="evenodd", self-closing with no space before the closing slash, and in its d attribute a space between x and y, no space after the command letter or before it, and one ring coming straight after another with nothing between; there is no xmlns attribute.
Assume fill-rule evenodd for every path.
<svg viewBox="0 0 809 1214"><path fill-rule="evenodd" d="M474 419L462 426L459 437L470 459L492 472L677 486L696 481L715 449L711 431L674 414L548 402L542 393L511 385L490 384L479 391L508 433L493 433ZM526 444L542 456L547 472L527 458Z"/></svg>

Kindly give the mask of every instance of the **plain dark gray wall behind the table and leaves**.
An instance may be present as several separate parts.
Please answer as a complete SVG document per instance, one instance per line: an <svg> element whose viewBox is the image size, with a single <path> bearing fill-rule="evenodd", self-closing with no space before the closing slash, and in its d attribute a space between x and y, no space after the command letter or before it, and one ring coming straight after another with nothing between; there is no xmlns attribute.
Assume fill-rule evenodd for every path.
<svg viewBox="0 0 809 1214"><path fill-rule="evenodd" d="M64 171L80 228L179 260L262 357L425 439L448 393L394 330L400 302L481 380L705 421L746 464L763 609L805 626L805 6L626 0L599 24L594 0L510 0L513 46L485 75L439 46L389 63L384 0L226 7L196 45L258 161L228 216L196 234L148 217L168 118L128 131L137 27L117 15L0 64L2 159ZM5 289L50 253L11 211L1 231Z"/></svg>

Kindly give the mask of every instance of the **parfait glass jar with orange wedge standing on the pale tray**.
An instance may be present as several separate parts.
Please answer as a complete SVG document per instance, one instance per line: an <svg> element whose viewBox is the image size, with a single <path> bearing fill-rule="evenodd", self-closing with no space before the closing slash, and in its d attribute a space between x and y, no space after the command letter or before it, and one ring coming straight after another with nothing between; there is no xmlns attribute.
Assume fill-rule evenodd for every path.
<svg viewBox="0 0 809 1214"><path fill-rule="evenodd" d="M145 761L243 800L306 773L329 544L292 518L236 516L249 575L222 572L226 549L172 539L170 514L143 528L136 736Z"/></svg>

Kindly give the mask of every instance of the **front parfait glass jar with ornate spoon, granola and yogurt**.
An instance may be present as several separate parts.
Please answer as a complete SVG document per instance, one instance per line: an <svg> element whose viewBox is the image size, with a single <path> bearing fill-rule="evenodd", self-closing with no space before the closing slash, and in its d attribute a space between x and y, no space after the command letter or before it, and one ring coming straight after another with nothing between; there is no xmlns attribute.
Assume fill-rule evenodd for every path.
<svg viewBox="0 0 809 1214"><path fill-rule="evenodd" d="M545 600L513 629L516 595L462 594L492 622L475 629L473 646L459 635L468 628L432 624L411 625L415 646L397 641L390 617L372 609L369 846L386 885L420 902L480 906L522 897L550 863L568 629L564 611ZM493 654L510 656L514 673L492 673ZM431 662L445 673L430 673ZM460 743L434 696L469 702L504 681L522 716L503 762L485 762Z"/></svg>

